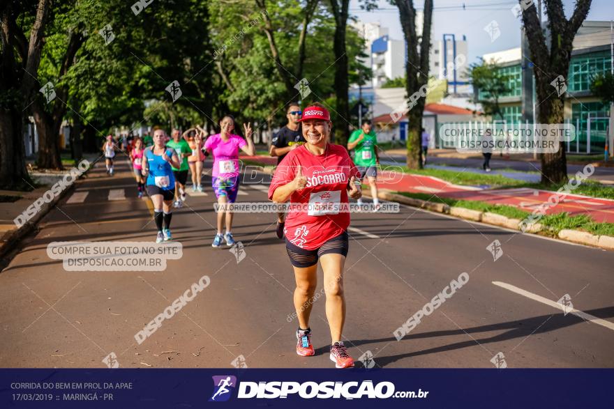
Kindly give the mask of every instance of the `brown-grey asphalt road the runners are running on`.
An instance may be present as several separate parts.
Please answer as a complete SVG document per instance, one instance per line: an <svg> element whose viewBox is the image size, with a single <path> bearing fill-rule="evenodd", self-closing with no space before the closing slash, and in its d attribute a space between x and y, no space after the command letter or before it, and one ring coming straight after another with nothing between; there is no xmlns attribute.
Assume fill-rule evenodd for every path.
<svg viewBox="0 0 614 409"><path fill-rule="evenodd" d="M246 254L237 263L228 249L211 248L209 181L207 196L190 196L174 212L184 253L167 270L67 272L47 256L50 242L155 239L125 158L112 178L98 163L74 203L66 203L71 194L63 199L0 273L0 366L105 367L113 352L123 367L231 367L239 355L248 367L331 367L322 284L310 323L317 355L299 357L294 279L275 215L235 216ZM266 201L266 186L243 185L239 201ZM371 353L382 367L472 368L493 367L503 353L509 367L614 366L613 252L405 206L352 214L350 238L344 337L354 359ZM493 240L502 250L496 261L487 249ZM467 284L397 341L393 332L461 272ZM202 275L209 286L138 345L135 333ZM584 318L553 305L565 294Z"/></svg>

